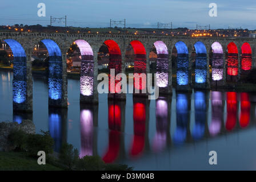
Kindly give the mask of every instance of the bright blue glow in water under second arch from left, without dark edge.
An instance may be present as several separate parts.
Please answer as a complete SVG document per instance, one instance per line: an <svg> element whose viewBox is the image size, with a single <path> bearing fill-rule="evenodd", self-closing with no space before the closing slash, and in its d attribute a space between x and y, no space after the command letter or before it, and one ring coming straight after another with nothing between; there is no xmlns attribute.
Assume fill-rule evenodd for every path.
<svg viewBox="0 0 256 182"><path fill-rule="evenodd" d="M49 113L49 131L54 139L54 151L61 148L61 116L57 113Z"/></svg>

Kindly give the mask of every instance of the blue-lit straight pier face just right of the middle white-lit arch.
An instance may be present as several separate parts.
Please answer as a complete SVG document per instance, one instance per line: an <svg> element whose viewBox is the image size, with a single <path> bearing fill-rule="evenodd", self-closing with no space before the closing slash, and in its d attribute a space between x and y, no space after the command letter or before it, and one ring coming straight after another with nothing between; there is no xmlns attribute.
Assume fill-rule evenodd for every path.
<svg viewBox="0 0 256 182"><path fill-rule="evenodd" d="M189 84L189 55L179 54L177 56L177 84Z"/></svg>

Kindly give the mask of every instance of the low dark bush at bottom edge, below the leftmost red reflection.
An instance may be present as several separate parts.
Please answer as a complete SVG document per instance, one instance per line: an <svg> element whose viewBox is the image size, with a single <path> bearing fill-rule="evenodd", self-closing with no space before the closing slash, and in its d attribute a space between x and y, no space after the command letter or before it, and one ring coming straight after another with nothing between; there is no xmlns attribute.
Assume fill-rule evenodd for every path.
<svg viewBox="0 0 256 182"><path fill-rule="evenodd" d="M105 163L100 156L84 156L78 160L77 169L82 171L103 171Z"/></svg>

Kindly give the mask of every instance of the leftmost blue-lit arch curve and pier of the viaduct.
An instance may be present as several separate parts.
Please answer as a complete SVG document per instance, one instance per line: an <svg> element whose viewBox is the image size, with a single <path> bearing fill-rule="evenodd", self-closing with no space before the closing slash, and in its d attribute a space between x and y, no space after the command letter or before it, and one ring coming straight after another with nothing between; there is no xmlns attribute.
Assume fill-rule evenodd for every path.
<svg viewBox="0 0 256 182"><path fill-rule="evenodd" d="M13 52L13 102L22 104L26 101L27 92L27 69L26 53L16 40L4 40Z"/></svg>

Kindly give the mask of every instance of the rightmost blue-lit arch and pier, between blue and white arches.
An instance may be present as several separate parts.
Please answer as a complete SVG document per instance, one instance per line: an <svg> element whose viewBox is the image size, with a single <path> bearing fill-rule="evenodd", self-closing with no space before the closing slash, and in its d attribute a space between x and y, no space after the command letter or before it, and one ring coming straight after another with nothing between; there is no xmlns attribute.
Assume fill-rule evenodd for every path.
<svg viewBox="0 0 256 182"><path fill-rule="evenodd" d="M195 53L197 58L195 59L195 83L203 84L206 82L207 77L207 53L206 47L202 42L194 44Z"/></svg>

